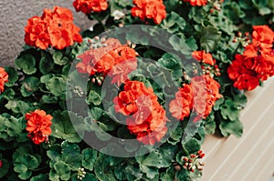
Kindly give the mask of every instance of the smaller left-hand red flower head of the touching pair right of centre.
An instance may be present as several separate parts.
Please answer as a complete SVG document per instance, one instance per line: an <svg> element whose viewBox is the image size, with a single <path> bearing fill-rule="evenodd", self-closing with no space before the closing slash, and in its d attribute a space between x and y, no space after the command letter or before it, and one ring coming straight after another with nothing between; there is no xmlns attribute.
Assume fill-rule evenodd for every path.
<svg viewBox="0 0 274 181"><path fill-rule="evenodd" d="M170 102L169 111L176 119L183 121L190 115L193 106L193 90L191 85L184 85L175 94L175 99Z"/></svg>

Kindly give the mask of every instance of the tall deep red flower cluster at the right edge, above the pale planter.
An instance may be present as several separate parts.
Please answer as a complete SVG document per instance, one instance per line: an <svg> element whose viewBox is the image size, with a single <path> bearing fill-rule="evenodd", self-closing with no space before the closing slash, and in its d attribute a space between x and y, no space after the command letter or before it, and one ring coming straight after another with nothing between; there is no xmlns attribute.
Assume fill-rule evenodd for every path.
<svg viewBox="0 0 274 181"><path fill-rule="evenodd" d="M253 90L274 75L274 32L267 25L253 26L252 43L227 68L238 89Z"/></svg>

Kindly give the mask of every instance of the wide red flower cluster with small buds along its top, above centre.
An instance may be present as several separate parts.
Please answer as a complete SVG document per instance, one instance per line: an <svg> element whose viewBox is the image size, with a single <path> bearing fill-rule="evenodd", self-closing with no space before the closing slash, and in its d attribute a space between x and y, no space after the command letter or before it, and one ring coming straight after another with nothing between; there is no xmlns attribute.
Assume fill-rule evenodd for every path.
<svg viewBox="0 0 274 181"><path fill-rule="evenodd" d="M76 65L79 73L109 75L112 77L112 84L125 83L128 75L137 68L138 54L128 45L121 45L119 40L114 38L102 41L101 45L79 55L81 62Z"/></svg>

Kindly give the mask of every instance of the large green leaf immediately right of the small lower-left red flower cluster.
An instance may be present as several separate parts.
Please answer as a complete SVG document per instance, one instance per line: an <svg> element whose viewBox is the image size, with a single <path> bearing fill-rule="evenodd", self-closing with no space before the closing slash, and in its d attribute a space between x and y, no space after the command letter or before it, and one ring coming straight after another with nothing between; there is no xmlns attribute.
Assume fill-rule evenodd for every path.
<svg viewBox="0 0 274 181"><path fill-rule="evenodd" d="M70 114L73 120L70 120L68 114ZM75 116L73 113L68 111L57 113L53 117L51 126L52 136L68 140L70 143L79 143L81 141L81 137L76 132L74 126L83 124L84 119L82 117ZM71 121L74 122L74 126Z"/></svg>

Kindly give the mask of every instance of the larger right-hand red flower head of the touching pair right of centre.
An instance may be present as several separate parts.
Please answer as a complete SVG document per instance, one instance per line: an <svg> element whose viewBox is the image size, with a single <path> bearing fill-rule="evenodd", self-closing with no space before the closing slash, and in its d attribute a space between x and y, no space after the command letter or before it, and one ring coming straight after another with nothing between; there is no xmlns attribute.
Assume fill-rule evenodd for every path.
<svg viewBox="0 0 274 181"><path fill-rule="evenodd" d="M194 109L199 117L208 116L217 99L221 98L219 94L220 85L209 75L195 76L191 85L194 92Z"/></svg>

